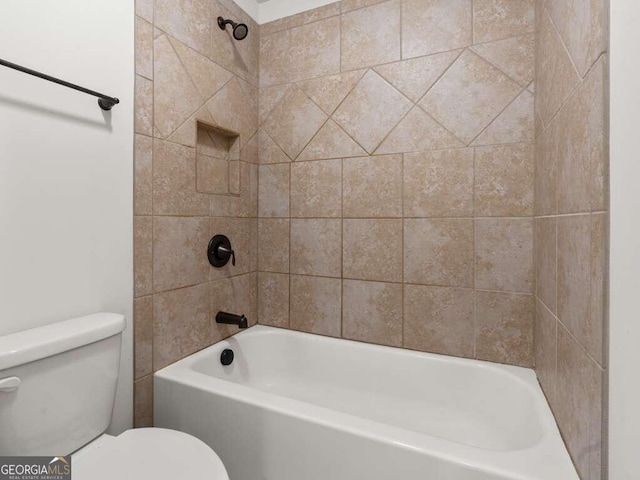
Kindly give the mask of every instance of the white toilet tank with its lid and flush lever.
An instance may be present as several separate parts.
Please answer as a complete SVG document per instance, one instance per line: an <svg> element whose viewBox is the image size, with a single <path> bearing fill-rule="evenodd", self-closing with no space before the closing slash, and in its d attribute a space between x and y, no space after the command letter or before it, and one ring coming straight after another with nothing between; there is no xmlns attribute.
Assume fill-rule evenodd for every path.
<svg viewBox="0 0 640 480"><path fill-rule="evenodd" d="M68 455L107 429L125 326L98 313L0 337L0 456Z"/></svg>

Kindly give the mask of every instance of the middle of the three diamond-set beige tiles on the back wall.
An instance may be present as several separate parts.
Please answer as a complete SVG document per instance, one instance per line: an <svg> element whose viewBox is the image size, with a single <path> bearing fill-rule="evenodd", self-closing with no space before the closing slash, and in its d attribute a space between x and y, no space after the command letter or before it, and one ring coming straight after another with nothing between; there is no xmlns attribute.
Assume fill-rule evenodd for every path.
<svg viewBox="0 0 640 480"><path fill-rule="evenodd" d="M369 71L334 113L333 119L372 153L411 108L411 102Z"/></svg>

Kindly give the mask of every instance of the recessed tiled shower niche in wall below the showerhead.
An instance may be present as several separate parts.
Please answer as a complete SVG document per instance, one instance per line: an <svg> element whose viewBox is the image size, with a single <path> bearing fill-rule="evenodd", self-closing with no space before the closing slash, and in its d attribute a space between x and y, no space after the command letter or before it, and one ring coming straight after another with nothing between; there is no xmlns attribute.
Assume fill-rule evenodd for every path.
<svg viewBox="0 0 640 480"><path fill-rule="evenodd" d="M214 195L240 194L239 135L196 120L196 189Z"/></svg>

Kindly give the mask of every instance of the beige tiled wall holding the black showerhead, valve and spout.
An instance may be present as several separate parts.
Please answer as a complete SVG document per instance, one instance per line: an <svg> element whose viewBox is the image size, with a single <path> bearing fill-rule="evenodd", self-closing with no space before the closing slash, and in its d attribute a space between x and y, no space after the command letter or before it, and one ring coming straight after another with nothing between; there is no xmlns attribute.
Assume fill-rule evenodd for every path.
<svg viewBox="0 0 640 480"><path fill-rule="evenodd" d="M249 37L234 41L218 15ZM153 372L237 331L218 310L257 320L258 51L258 26L230 0L136 1L136 426L153 422ZM240 195L202 193L196 119L239 134ZM209 266L216 233L236 267Z"/></svg>

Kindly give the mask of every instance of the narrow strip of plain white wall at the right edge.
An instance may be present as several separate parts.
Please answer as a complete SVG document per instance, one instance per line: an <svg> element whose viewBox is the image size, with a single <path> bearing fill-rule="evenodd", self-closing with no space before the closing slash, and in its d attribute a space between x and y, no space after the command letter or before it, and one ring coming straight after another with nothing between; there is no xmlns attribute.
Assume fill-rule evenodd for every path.
<svg viewBox="0 0 640 480"><path fill-rule="evenodd" d="M611 1L609 478L638 478L640 442L640 2Z"/></svg>

